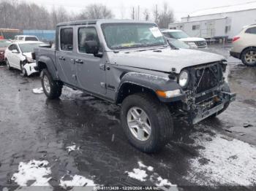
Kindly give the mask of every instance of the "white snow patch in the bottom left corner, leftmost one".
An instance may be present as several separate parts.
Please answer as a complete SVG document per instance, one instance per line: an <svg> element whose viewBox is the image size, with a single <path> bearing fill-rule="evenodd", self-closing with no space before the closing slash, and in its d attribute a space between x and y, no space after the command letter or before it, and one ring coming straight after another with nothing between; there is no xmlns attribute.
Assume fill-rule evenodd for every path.
<svg viewBox="0 0 256 191"><path fill-rule="evenodd" d="M13 174L12 180L14 180L19 186L30 186L28 182L34 181L31 186L47 186L50 184L48 181L51 179L50 167L48 161L31 160L29 163L20 162L18 166L18 173Z"/></svg>

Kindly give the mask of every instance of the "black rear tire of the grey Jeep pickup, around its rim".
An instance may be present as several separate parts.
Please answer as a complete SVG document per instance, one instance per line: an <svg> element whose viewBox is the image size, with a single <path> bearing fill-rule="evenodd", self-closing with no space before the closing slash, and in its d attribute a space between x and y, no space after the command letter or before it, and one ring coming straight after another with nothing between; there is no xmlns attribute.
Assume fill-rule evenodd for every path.
<svg viewBox="0 0 256 191"><path fill-rule="evenodd" d="M44 83L44 78L47 78L49 81L50 90L47 91ZM41 84L42 90L44 91L45 95L49 99L57 99L61 96L62 93L62 83L56 80L53 80L53 77L50 75L48 69L43 69L41 73Z"/></svg>

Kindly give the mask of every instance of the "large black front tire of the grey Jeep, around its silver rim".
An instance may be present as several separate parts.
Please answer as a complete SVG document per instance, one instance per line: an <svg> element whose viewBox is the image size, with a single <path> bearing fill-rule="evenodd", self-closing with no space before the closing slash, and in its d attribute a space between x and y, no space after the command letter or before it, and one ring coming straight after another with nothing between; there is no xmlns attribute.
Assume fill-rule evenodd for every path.
<svg viewBox="0 0 256 191"><path fill-rule="evenodd" d="M151 135L147 141L140 141L132 135L127 114L132 107L140 107L151 121ZM173 117L165 104L153 95L136 93L127 96L121 105L121 125L129 142L142 152L159 152L173 135Z"/></svg>

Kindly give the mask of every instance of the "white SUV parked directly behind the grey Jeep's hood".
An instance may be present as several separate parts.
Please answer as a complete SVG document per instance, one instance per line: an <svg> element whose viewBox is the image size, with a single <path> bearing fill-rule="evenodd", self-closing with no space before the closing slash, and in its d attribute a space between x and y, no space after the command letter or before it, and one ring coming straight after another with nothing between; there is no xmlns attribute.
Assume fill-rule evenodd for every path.
<svg viewBox="0 0 256 191"><path fill-rule="evenodd" d="M178 39L182 42L185 42L191 48L208 47L206 39L198 38L198 37L190 37L184 31L181 31L181 30L166 29L166 30L162 30L162 34L164 34L167 38Z"/></svg>

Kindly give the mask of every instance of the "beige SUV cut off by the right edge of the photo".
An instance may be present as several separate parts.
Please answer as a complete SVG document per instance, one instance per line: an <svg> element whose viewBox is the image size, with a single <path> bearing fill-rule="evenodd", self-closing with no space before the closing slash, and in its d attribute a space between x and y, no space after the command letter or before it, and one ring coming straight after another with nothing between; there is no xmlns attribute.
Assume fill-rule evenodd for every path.
<svg viewBox="0 0 256 191"><path fill-rule="evenodd" d="M240 59L246 66L256 66L256 24L245 26L233 38L230 55Z"/></svg>

